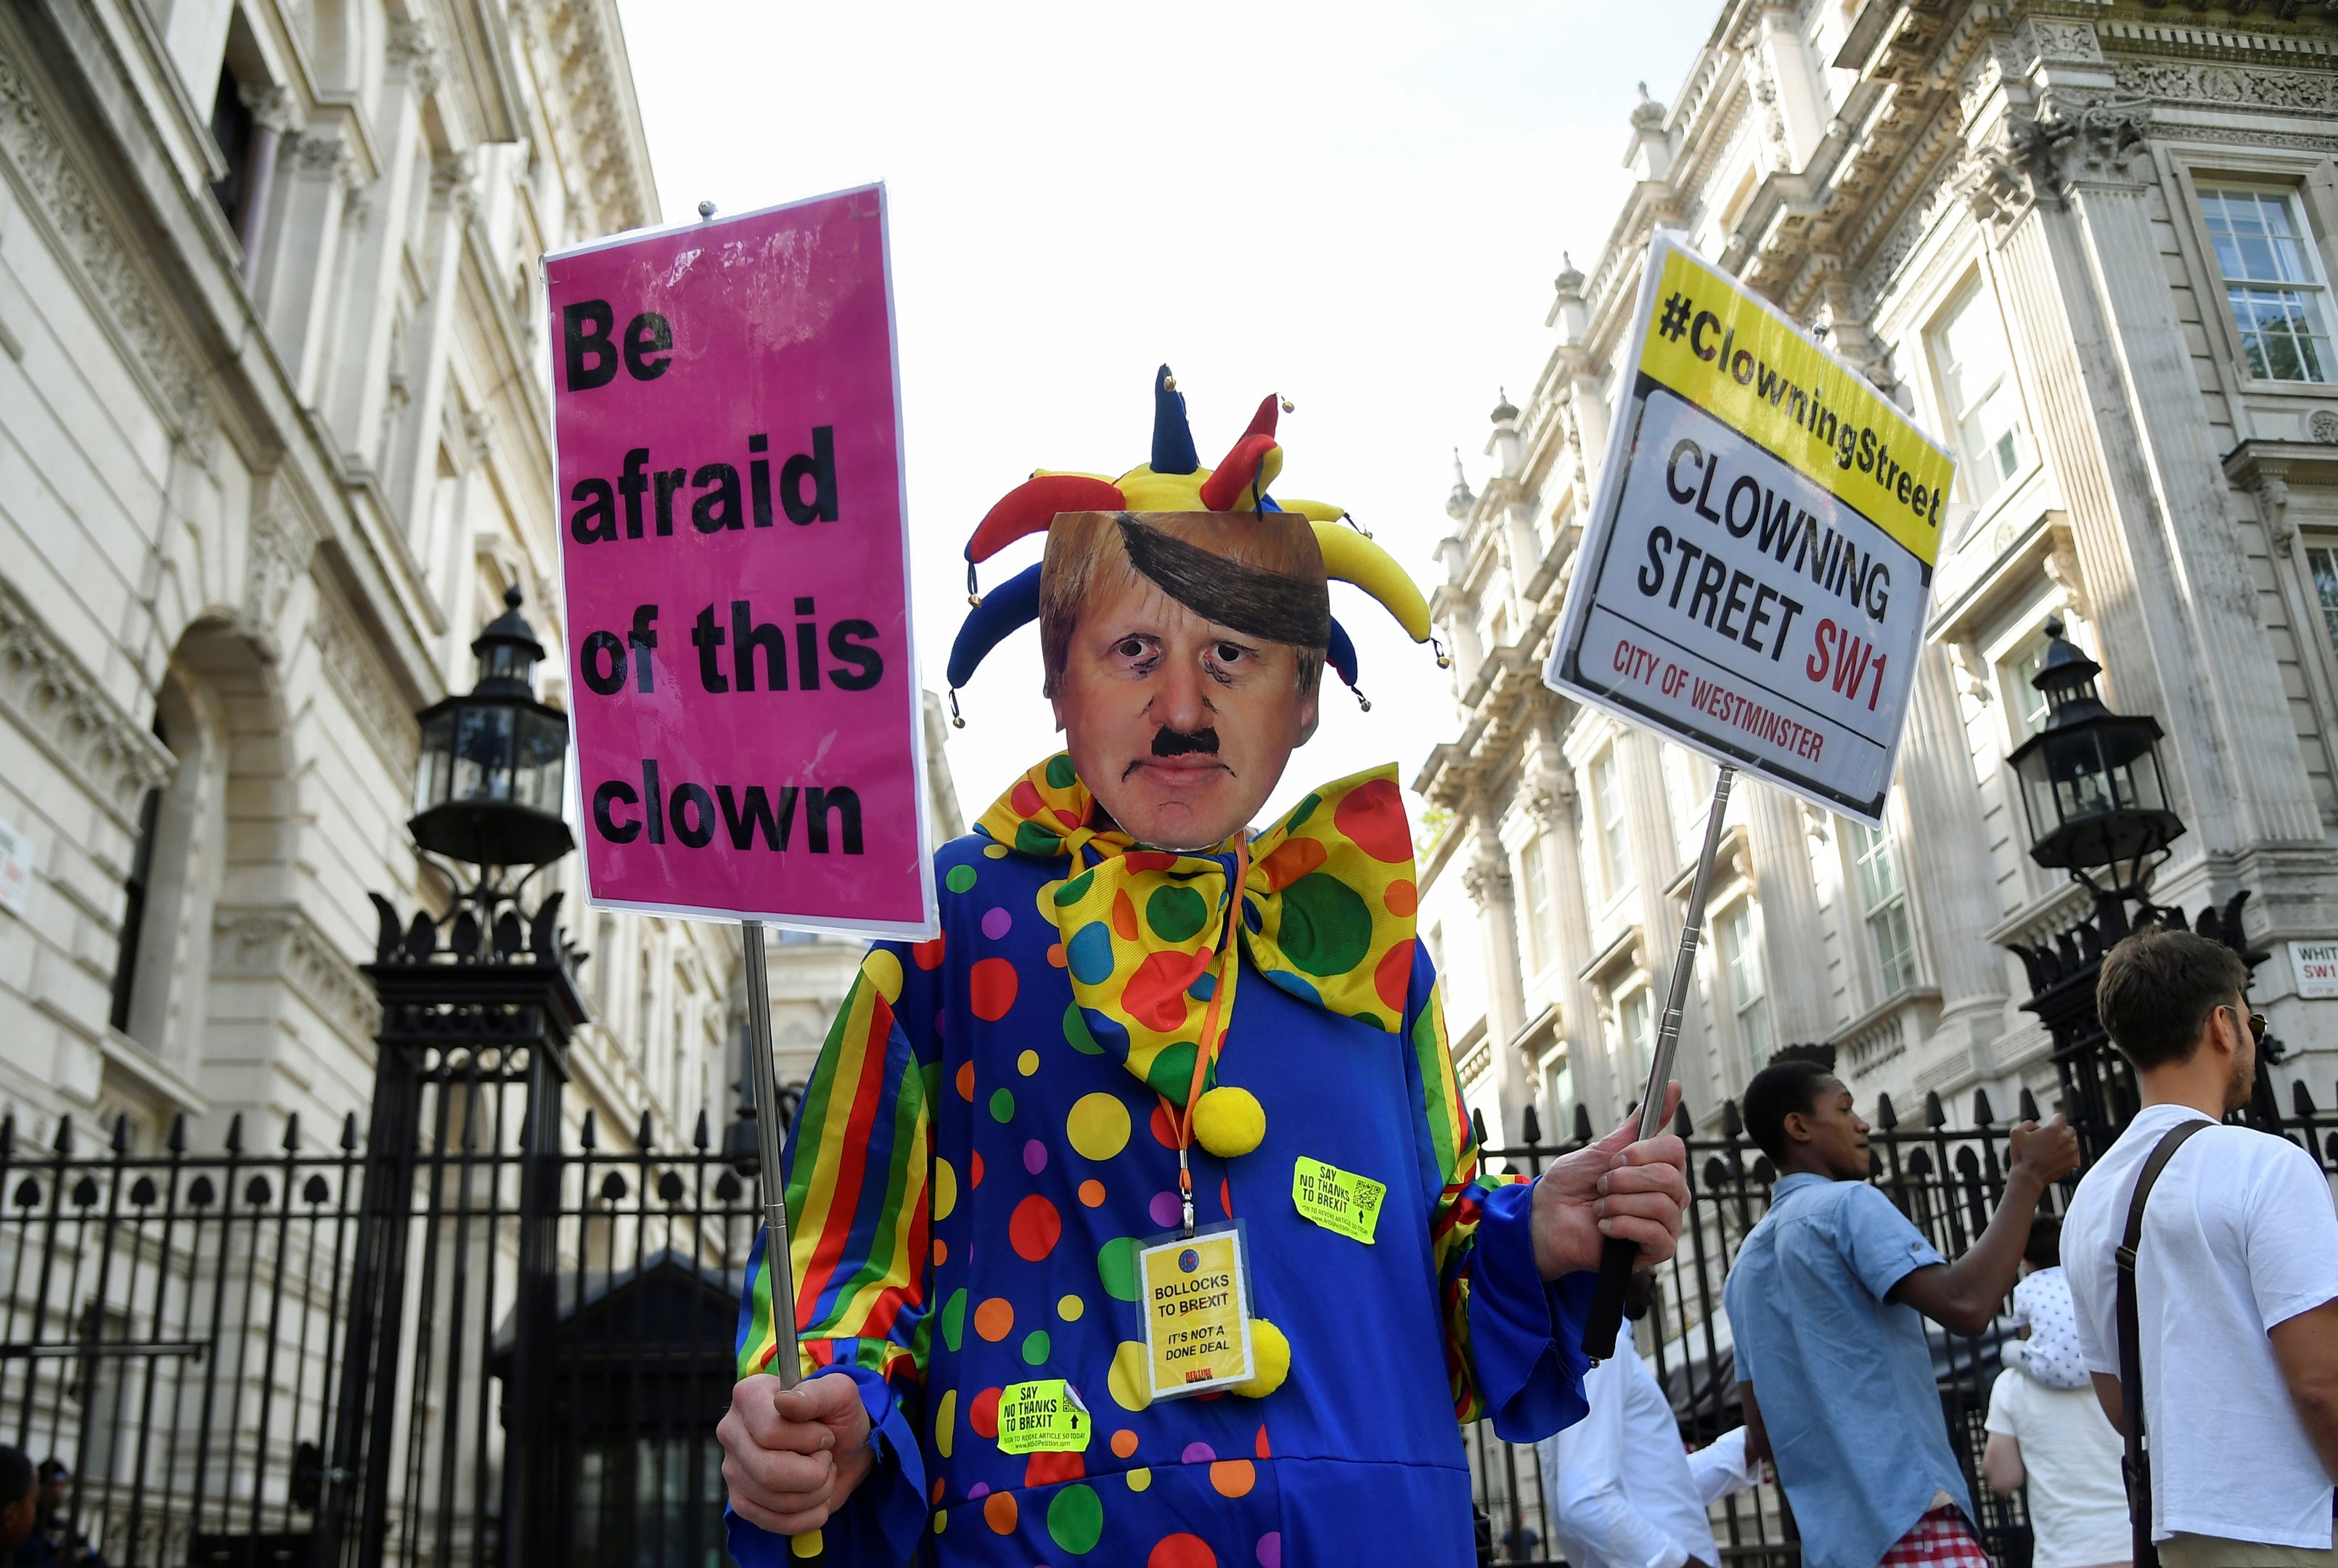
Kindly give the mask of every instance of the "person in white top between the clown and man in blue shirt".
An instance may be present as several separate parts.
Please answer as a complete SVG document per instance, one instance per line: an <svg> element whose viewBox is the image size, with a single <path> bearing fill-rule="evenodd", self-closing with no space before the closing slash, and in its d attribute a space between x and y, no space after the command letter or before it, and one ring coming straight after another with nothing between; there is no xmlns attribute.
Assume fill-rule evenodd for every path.
<svg viewBox="0 0 2338 1568"><path fill-rule="evenodd" d="M1653 1285L1634 1274L1625 1316L1648 1316ZM1590 1414L1536 1444L1550 1535L1569 1568L1721 1568L1704 1505L1756 1484L1744 1428L1688 1453L1672 1402L1632 1344L1583 1376Z"/></svg>

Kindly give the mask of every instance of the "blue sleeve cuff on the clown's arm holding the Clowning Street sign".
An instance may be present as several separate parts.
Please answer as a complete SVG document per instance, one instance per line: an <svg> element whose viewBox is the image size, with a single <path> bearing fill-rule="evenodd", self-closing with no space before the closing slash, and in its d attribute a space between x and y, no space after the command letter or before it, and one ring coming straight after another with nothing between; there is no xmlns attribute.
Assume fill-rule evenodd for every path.
<svg viewBox="0 0 2338 1568"><path fill-rule="evenodd" d="M1583 1320L1597 1274L1557 1283L1534 1267L1534 1185L1485 1194L1471 1257L1468 1344L1494 1435L1538 1442L1583 1421Z"/></svg>

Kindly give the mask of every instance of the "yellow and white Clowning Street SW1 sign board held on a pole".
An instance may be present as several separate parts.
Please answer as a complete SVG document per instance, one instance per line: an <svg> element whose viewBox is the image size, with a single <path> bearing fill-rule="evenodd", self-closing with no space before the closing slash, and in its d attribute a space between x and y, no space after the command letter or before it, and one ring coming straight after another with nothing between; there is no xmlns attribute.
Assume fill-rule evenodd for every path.
<svg viewBox="0 0 2338 1568"><path fill-rule="evenodd" d="M1955 460L1658 236L1543 678L1880 825Z"/></svg>

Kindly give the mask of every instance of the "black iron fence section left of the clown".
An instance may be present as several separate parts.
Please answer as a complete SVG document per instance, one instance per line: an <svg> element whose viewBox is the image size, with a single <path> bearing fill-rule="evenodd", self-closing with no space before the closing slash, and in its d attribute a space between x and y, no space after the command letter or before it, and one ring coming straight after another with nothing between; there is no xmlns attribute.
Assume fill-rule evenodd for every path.
<svg viewBox="0 0 2338 1568"><path fill-rule="evenodd" d="M367 1369L383 1435L332 1465L360 1246L355 1119L332 1147L288 1124L276 1150L192 1152L185 1124L138 1154L129 1129L47 1147L0 1124L0 1439L70 1468L56 1524L117 1568L360 1556L320 1533L339 1493L379 1528L376 1563L507 1561L517 1507L514 1358L519 1087L456 1054L421 1129L395 1337ZM556 1152L552 1337L542 1444L559 1561L720 1561L713 1421L729 1400L732 1323L755 1236L753 1178L713 1150L601 1147L587 1115ZM379 1461L379 1463L365 1463ZM379 1496L367 1507L367 1482Z"/></svg>

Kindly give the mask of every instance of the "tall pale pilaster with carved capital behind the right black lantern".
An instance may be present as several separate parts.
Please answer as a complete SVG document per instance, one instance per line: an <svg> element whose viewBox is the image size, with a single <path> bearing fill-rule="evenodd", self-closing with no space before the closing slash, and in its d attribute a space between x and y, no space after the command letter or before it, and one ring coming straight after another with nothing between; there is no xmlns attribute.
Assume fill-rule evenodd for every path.
<svg viewBox="0 0 2338 1568"><path fill-rule="evenodd" d="M2151 231L2151 110L2116 98L2093 56L2041 63L2039 86L2011 84L1971 154L1966 199L1992 224L2015 297L2015 348L2102 629L2109 699L2165 724L2177 806L2202 851L2319 844Z"/></svg>

